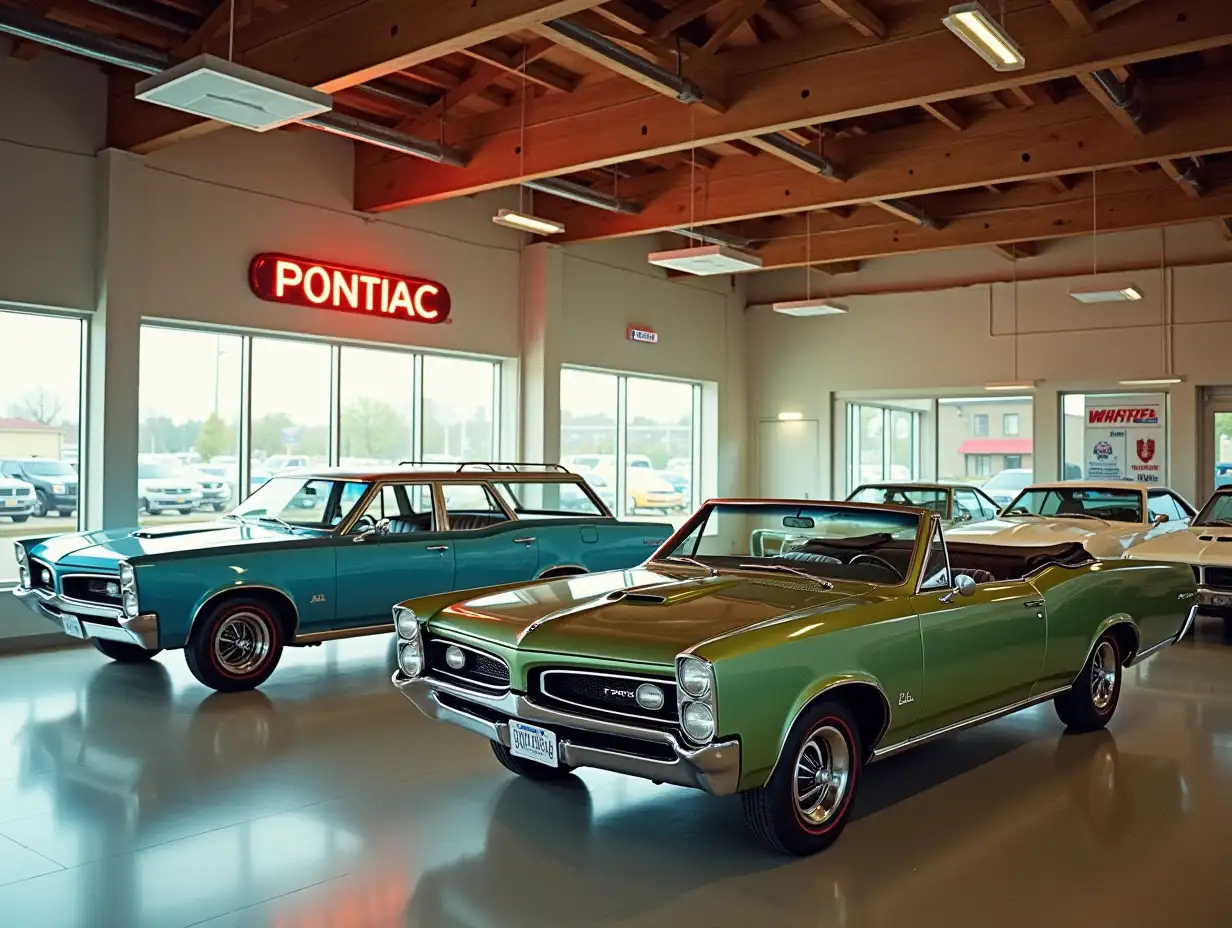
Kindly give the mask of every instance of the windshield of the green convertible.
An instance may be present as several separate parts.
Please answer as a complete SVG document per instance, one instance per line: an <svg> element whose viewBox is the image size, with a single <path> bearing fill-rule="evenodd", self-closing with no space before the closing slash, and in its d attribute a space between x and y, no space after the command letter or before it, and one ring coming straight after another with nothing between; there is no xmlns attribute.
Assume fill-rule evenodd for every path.
<svg viewBox="0 0 1232 928"><path fill-rule="evenodd" d="M655 560L897 585L910 572L922 519L880 507L716 503Z"/></svg>

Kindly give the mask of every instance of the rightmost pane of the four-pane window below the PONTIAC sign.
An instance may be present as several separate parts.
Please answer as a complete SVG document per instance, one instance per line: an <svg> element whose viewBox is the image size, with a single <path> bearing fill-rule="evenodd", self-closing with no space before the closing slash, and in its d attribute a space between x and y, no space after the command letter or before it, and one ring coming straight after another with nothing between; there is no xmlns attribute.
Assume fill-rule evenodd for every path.
<svg viewBox="0 0 1232 928"><path fill-rule="evenodd" d="M462 357L424 357L424 458L496 457L496 365Z"/></svg>

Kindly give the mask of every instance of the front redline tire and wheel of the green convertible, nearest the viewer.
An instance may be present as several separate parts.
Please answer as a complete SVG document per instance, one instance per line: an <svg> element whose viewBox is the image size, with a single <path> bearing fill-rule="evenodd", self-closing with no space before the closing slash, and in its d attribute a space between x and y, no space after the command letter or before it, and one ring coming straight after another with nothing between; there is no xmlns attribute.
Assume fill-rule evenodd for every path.
<svg viewBox="0 0 1232 928"><path fill-rule="evenodd" d="M864 771L859 732L838 700L817 702L796 720L774 774L740 794L744 821L763 844L806 857L838 840Z"/></svg>

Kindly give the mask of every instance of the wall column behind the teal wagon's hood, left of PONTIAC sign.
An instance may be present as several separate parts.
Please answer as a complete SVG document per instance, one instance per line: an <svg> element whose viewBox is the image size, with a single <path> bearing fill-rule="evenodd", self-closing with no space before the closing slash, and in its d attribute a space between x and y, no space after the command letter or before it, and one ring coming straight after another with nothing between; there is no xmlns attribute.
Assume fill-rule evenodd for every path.
<svg viewBox="0 0 1232 928"><path fill-rule="evenodd" d="M144 196L140 159L103 150L99 169L99 282L89 336L85 527L137 523ZM175 385L163 385L175 389Z"/></svg>

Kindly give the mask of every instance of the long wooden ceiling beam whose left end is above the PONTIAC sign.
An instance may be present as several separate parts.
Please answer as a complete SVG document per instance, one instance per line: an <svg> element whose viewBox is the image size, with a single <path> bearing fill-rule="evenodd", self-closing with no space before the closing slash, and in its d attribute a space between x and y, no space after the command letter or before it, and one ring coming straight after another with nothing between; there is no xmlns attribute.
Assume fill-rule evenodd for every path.
<svg viewBox="0 0 1232 928"><path fill-rule="evenodd" d="M679 102L657 94L627 86L573 94L558 106L536 107L529 117L525 163L514 153L516 121L499 115L461 121L451 127L448 142L472 154L464 170L375 154L357 164L356 206L381 211L446 200L691 144L839 122L1232 43L1232 18L1209 4L1194 5L1183 21L1167 4L1146 5L1080 39L1057 28L1051 6L1024 10L1010 26L1031 54L1024 69L1007 73L994 71L977 55L954 54L954 37L933 17L913 20L910 27L920 31L904 26L892 43L853 39L865 44L837 54L819 51L812 33L724 53L716 69L726 75L731 105L696 124L681 116ZM903 68L904 60L928 67Z"/></svg>

